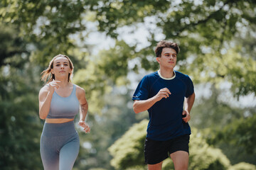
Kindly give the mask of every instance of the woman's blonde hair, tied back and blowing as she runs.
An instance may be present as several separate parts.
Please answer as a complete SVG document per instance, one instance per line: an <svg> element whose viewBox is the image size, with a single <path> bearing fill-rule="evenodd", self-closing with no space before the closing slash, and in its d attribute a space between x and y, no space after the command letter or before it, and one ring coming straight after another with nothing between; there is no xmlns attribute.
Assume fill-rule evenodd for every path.
<svg viewBox="0 0 256 170"><path fill-rule="evenodd" d="M56 55L55 57L53 57L52 60L50 60L50 63L48 65L48 68L43 70L43 72L41 72L42 77L41 77L41 80L44 81L46 84L50 83L50 81L53 81L53 79L55 79L55 75L52 74L51 69L53 69L53 62L56 58L58 57L65 57L68 59L68 62L70 64L70 69L71 69L71 73L68 73L68 82L71 82L71 78L72 78L72 75L73 75L73 62L71 62L70 58L66 55ZM47 82L46 82L47 81Z"/></svg>

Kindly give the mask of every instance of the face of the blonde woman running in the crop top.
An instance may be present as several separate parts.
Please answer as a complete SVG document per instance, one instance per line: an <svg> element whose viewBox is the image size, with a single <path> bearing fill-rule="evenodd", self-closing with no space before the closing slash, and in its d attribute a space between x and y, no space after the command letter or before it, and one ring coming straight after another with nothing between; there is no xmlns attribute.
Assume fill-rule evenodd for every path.
<svg viewBox="0 0 256 170"><path fill-rule="evenodd" d="M70 62L66 57L57 57L53 61L53 69L51 69L51 72L55 75L55 78L68 78L68 74L71 74L72 72L72 69L70 69Z"/></svg>

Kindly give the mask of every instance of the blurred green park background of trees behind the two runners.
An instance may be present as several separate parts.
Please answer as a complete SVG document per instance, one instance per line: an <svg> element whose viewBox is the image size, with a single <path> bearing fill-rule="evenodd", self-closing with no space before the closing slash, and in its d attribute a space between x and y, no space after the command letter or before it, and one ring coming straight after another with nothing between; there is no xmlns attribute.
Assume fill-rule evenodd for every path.
<svg viewBox="0 0 256 170"><path fill-rule="evenodd" d="M256 169L255 16L255 0L1 0L0 169L43 169L38 92L58 54L89 103L73 169L146 169L132 94L159 69L159 40L178 43L175 69L195 85L189 169Z"/></svg>

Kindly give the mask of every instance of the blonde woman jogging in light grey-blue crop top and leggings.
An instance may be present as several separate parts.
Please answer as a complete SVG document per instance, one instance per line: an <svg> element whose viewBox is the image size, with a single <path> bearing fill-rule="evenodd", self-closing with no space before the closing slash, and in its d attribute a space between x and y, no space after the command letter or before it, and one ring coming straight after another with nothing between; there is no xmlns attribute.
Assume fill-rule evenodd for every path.
<svg viewBox="0 0 256 170"><path fill-rule="evenodd" d="M73 63L68 56L57 55L42 72L46 86L39 92L39 116L46 119L41 135L40 152L44 169L72 169L78 157L80 141L74 118L80 111L80 125L85 132L88 104L85 90L72 84Z"/></svg>

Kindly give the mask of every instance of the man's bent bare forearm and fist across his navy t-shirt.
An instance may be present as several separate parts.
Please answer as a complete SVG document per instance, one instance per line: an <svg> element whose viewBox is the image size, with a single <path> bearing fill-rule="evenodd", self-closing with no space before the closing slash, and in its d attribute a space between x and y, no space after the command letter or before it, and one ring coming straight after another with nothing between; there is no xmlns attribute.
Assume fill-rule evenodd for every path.
<svg viewBox="0 0 256 170"><path fill-rule="evenodd" d="M156 94L156 96L154 97L151 97L143 101L134 101L134 105L133 105L134 112L140 113L140 112L146 111L149 108L151 108L154 105L154 103L156 103L157 101L160 101L162 98L168 98L170 94L171 92L169 91L169 89L164 88L164 89L161 89L158 92L158 94Z"/></svg>

